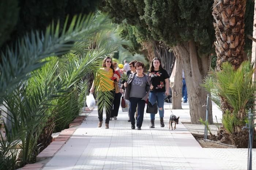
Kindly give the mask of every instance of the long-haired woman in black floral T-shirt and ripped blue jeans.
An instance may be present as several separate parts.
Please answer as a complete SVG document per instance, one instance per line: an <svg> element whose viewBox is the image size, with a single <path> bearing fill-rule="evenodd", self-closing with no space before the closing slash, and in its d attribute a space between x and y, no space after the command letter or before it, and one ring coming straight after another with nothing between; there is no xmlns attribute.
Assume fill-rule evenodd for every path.
<svg viewBox="0 0 256 170"><path fill-rule="evenodd" d="M158 112L160 117L160 126L165 127L163 123L164 109L163 104L165 102L165 95L169 94L169 75L165 69L163 69L161 64L161 59L154 58L150 64L148 71L150 76L150 94L148 101L154 105L157 102ZM149 128L155 128L155 114L150 114L151 125Z"/></svg>

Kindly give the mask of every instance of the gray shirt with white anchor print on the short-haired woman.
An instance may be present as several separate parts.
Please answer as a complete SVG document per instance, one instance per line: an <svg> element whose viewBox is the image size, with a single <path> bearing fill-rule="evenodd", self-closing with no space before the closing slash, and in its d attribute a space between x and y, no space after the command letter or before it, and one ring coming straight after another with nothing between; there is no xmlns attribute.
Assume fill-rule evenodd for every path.
<svg viewBox="0 0 256 170"><path fill-rule="evenodd" d="M146 85L147 80L146 77L137 77L135 75L135 78L131 82L131 92L130 92L130 98L143 98L146 95Z"/></svg>

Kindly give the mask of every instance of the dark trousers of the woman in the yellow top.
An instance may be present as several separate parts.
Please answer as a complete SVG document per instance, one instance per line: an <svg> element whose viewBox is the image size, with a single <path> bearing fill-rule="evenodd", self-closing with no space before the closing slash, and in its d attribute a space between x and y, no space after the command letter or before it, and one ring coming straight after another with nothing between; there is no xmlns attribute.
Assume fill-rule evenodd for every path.
<svg viewBox="0 0 256 170"><path fill-rule="evenodd" d="M113 108L114 96L115 96L115 90L111 90L108 92L102 92L102 95L98 99L98 104L97 104L98 105L98 118L99 118L100 122L103 120L103 107L105 107L105 112L106 112L105 123L109 123L110 114L111 114L111 111ZM109 99L110 103L106 102L106 100L105 100L106 98ZM100 105L102 105L101 108L99 108Z"/></svg>

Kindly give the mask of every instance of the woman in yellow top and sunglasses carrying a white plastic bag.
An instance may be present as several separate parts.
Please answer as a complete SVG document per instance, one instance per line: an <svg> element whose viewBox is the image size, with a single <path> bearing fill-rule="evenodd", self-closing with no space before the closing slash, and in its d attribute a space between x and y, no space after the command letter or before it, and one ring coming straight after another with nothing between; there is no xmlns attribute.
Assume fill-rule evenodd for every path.
<svg viewBox="0 0 256 170"><path fill-rule="evenodd" d="M102 97L98 99L98 127L102 126L103 121L103 106L105 106L105 112L106 112L106 120L105 120L105 128L109 128L109 118L110 114L113 108L113 100L115 95L115 89L114 89L114 81L112 80L113 77L116 78L116 80L119 80L119 76L117 74L114 74L112 59L110 57L106 57L102 62L102 68L101 73L102 77L98 77L96 75L96 79L99 79L99 86L97 87L98 94L101 94ZM94 91L94 81L93 85L90 89L90 92ZM105 99L108 99L110 103L106 102ZM101 108L99 106L102 106Z"/></svg>

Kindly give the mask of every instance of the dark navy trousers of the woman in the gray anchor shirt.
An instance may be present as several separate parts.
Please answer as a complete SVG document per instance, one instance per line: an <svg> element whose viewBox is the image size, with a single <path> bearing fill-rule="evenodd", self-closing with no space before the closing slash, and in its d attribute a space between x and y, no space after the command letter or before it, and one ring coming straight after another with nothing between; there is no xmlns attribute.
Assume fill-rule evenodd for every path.
<svg viewBox="0 0 256 170"><path fill-rule="evenodd" d="M146 101L142 100L142 98L129 98L129 101L130 101L129 115L130 115L131 124L132 125L135 124L134 114L138 104L137 127L141 127L143 122L143 117L144 117L144 108L145 108Z"/></svg>

